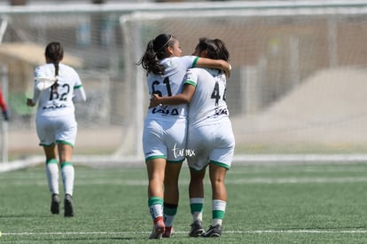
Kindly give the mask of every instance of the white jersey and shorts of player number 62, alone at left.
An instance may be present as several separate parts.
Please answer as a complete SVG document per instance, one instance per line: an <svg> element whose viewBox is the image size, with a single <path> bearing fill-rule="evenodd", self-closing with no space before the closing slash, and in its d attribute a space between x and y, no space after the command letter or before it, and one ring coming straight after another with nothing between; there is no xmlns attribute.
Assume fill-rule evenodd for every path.
<svg viewBox="0 0 367 244"><path fill-rule="evenodd" d="M35 85L33 102L38 102L35 116L36 130L40 146L51 146L64 143L74 146L77 123L74 114L74 102L85 101L86 96L82 82L74 68L59 64L58 87L39 89L40 77L55 77L53 64L35 68ZM37 80L38 78L38 80Z"/></svg>

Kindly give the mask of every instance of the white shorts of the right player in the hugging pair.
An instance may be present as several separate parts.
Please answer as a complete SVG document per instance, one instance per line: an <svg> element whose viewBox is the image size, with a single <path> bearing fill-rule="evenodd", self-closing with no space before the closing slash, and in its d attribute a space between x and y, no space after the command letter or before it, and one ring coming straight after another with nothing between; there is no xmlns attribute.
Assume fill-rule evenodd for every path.
<svg viewBox="0 0 367 244"><path fill-rule="evenodd" d="M235 147L235 138L230 120L211 125L189 127L186 151L189 167L201 170L215 163L230 169Z"/></svg>

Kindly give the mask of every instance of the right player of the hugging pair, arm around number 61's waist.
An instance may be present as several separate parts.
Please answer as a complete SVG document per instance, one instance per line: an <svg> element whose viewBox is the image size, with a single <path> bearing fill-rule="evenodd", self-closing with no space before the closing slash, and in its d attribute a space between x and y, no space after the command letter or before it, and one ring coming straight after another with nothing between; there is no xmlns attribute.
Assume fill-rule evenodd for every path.
<svg viewBox="0 0 367 244"><path fill-rule="evenodd" d="M210 59L229 58L229 52L219 39L200 38L193 55ZM194 152L187 157L191 173L189 195L193 218L189 235L220 237L227 203L224 178L230 169L235 146L226 104L226 75L218 69L191 68L186 74L181 94L172 97L153 95L150 106L184 103L190 103L186 148ZM212 185L212 224L204 232L203 181L207 165Z"/></svg>

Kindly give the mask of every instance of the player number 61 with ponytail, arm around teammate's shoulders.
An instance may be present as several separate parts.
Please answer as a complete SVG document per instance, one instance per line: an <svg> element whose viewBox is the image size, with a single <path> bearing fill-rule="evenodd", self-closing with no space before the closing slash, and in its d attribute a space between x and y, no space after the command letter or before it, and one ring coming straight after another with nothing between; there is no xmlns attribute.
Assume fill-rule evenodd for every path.
<svg viewBox="0 0 367 244"><path fill-rule="evenodd" d="M147 71L150 96L172 96L182 91L183 76L190 67L214 67L230 70L223 60L181 57L180 43L173 35L161 34L152 39L137 62ZM186 144L186 105L148 109L143 132L143 150L148 173L148 206L153 220L150 239L170 237L176 216L179 192L178 177ZM163 190L164 188L164 190Z"/></svg>

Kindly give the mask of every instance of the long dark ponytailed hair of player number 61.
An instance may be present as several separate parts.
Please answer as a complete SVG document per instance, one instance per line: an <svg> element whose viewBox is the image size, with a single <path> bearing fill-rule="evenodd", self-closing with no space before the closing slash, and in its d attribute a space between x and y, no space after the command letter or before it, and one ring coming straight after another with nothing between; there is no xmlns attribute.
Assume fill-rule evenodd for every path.
<svg viewBox="0 0 367 244"><path fill-rule="evenodd" d="M160 65L160 60L169 57L167 48L173 46L176 37L168 34L160 34L152 39L146 46L143 57L137 62L148 73L163 75L164 67Z"/></svg>

